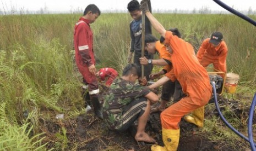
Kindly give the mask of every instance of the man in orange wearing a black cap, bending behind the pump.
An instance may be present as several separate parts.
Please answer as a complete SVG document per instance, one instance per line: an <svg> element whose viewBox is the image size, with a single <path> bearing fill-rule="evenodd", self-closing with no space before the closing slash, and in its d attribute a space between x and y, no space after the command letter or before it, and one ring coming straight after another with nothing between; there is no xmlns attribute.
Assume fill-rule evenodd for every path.
<svg viewBox="0 0 256 151"><path fill-rule="evenodd" d="M203 67L213 63L214 69L227 73L227 45L222 38L222 33L214 32L211 38L205 39L197 52L197 59Z"/></svg>

